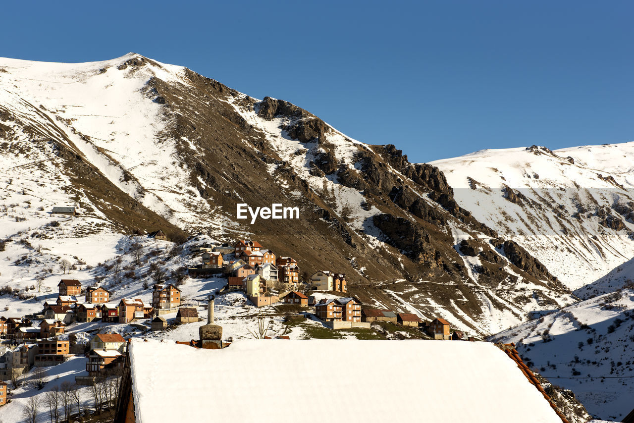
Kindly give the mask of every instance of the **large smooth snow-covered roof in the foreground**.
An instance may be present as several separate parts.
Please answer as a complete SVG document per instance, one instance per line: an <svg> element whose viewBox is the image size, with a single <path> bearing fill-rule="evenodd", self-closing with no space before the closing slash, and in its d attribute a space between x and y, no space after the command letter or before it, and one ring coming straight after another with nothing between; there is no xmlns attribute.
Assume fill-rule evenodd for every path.
<svg viewBox="0 0 634 423"><path fill-rule="evenodd" d="M562 421L488 342L252 339L209 350L133 339L130 353L137 423L321 422L306 401L353 422ZM335 377L309 377L315 369ZM390 381L397 403L365 389L381 381Z"/></svg>

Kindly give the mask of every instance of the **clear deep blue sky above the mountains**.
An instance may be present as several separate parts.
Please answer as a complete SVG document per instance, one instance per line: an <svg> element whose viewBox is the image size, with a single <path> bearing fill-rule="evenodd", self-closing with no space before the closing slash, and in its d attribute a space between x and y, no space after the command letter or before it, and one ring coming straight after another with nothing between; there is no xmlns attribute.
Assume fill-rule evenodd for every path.
<svg viewBox="0 0 634 423"><path fill-rule="evenodd" d="M0 56L134 51L292 101L412 162L634 140L631 1L10 2L1 13Z"/></svg>

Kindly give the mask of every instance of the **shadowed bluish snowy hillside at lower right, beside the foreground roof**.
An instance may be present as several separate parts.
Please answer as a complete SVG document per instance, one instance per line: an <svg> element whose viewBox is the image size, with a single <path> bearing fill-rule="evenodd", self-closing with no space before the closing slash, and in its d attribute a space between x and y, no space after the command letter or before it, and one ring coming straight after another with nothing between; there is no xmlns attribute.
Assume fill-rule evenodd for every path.
<svg viewBox="0 0 634 423"><path fill-rule="evenodd" d="M490 340L515 342L531 368L571 389L588 412L621 421L634 395L634 285L554 311Z"/></svg>

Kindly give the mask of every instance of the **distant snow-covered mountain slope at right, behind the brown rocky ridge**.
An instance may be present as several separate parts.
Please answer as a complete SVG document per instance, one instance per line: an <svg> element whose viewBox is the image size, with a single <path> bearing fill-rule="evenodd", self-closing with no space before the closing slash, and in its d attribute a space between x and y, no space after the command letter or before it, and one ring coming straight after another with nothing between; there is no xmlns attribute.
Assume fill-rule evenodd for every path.
<svg viewBox="0 0 634 423"><path fill-rule="evenodd" d="M634 142L482 150L432 164L458 204L579 289L634 257L633 157Z"/></svg>

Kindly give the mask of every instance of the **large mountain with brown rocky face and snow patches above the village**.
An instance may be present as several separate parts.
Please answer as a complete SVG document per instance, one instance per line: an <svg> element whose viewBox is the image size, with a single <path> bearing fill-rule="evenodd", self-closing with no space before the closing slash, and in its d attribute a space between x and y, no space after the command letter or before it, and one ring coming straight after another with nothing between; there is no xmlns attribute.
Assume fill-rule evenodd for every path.
<svg viewBox="0 0 634 423"><path fill-rule="evenodd" d="M33 237L48 238L53 249L64 239L137 228L162 228L173 240L199 232L253 237L297 258L306 275L346 273L365 303L443 316L481 334L576 301L553 275L581 286L570 282L574 266L568 273L549 266L559 263L551 247L525 242L515 233L521 225L506 228L488 215L499 207L463 203L464 192L479 191L454 190L451 171L446 179L436 166L410 164L393 145L352 140L286 101L256 100L134 53L81 64L0 59L0 147L0 219L14 260L14 249L26 248L18 242ZM531 174L531 181L543 179ZM236 218L238 203L297 206L301 218L250 225ZM49 215L55 205L75 205L82 216L47 226L60 220ZM591 211L608 227L630 228L607 211L584 213ZM595 243L581 237L590 236L590 224L571 222L579 231L571 245L595 257ZM597 243L606 266L623 263L606 246L609 236ZM616 249L630 245L627 236L613 237ZM15 283L12 271L0 280Z"/></svg>

